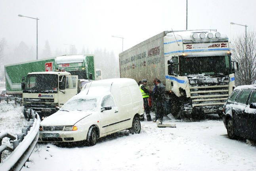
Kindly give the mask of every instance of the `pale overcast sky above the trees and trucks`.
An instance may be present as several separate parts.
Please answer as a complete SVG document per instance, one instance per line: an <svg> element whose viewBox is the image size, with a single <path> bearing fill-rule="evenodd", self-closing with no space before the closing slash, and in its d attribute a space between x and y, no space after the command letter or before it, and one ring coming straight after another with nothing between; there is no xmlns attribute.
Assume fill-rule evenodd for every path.
<svg viewBox="0 0 256 171"><path fill-rule="evenodd" d="M188 30L217 29L232 37L256 30L255 0L188 0ZM38 17L38 54L48 40L52 51L75 45L122 51L166 30L186 29L186 0L0 0L0 39L8 48L24 41L36 48Z"/></svg>

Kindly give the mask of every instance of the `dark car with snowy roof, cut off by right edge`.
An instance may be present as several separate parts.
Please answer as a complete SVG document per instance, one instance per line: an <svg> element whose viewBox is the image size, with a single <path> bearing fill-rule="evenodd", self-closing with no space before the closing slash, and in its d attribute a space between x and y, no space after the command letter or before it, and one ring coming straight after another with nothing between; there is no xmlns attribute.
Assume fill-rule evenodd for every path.
<svg viewBox="0 0 256 171"><path fill-rule="evenodd" d="M225 103L227 135L256 141L256 85L237 86Z"/></svg>

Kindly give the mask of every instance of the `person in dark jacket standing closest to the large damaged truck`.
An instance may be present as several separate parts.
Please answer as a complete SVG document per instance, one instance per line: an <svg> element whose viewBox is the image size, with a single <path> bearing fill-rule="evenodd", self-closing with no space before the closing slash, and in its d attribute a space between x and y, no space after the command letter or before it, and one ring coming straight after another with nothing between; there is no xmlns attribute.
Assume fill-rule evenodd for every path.
<svg viewBox="0 0 256 171"><path fill-rule="evenodd" d="M156 105L156 119L153 122L156 122L159 119L162 123L164 117L164 99L165 99L165 86L162 84L161 80L157 80L157 86L155 87L155 92L153 94Z"/></svg>

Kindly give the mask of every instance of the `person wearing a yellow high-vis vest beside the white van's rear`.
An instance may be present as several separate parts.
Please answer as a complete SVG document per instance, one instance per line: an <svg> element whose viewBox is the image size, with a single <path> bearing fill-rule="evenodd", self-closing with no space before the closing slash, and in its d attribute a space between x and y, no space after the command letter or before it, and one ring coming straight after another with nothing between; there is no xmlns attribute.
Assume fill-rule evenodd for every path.
<svg viewBox="0 0 256 171"><path fill-rule="evenodd" d="M146 112L147 121L152 121L151 116L149 114L149 102L148 102L149 90L147 89L146 85L147 85L147 80L143 79L142 84L139 85L139 89L140 89L142 97L143 97L144 110ZM143 114L141 121L144 121L144 114Z"/></svg>

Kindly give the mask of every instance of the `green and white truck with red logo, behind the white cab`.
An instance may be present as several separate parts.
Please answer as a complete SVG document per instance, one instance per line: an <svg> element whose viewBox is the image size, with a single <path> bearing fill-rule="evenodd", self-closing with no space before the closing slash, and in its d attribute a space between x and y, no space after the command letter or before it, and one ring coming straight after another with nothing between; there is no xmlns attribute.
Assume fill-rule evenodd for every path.
<svg viewBox="0 0 256 171"><path fill-rule="evenodd" d="M63 55L52 58L5 65L6 93L22 97L22 77L29 72L67 71L78 79L95 80L94 55Z"/></svg>

